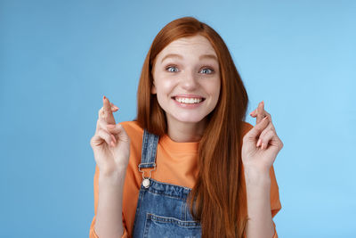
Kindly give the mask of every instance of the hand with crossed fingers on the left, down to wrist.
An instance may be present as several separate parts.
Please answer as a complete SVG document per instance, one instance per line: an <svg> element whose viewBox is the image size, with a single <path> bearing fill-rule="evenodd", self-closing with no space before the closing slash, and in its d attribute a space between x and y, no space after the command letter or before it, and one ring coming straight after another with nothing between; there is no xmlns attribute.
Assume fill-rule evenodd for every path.
<svg viewBox="0 0 356 238"><path fill-rule="evenodd" d="M101 175L112 176L127 167L130 157L130 138L124 127L116 124L112 112L118 108L103 96L95 134L90 144Z"/></svg>

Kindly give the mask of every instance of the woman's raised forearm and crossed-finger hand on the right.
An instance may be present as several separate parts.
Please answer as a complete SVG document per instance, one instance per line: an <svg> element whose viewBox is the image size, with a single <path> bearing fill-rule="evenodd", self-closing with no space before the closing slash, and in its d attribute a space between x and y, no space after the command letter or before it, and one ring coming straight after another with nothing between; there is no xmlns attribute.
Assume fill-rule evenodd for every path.
<svg viewBox="0 0 356 238"><path fill-rule="evenodd" d="M256 117L256 125L244 136L242 145L249 218L247 221L248 238L278 237L271 212L271 191L273 192L272 209L275 213L280 209L278 186L272 165L283 143L276 134L271 115L264 111L263 107L264 103L260 103L258 108L250 114ZM278 204L275 204L276 197Z"/></svg>

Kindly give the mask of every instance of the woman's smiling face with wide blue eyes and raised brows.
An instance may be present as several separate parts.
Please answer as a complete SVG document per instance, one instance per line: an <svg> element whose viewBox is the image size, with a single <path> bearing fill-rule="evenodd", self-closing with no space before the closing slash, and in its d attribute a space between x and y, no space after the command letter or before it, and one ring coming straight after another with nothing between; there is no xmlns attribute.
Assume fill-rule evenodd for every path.
<svg viewBox="0 0 356 238"><path fill-rule="evenodd" d="M220 94L220 69L213 46L202 36L183 37L167 45L153 69L158 103L168 125L204 123Z"/></svg>

